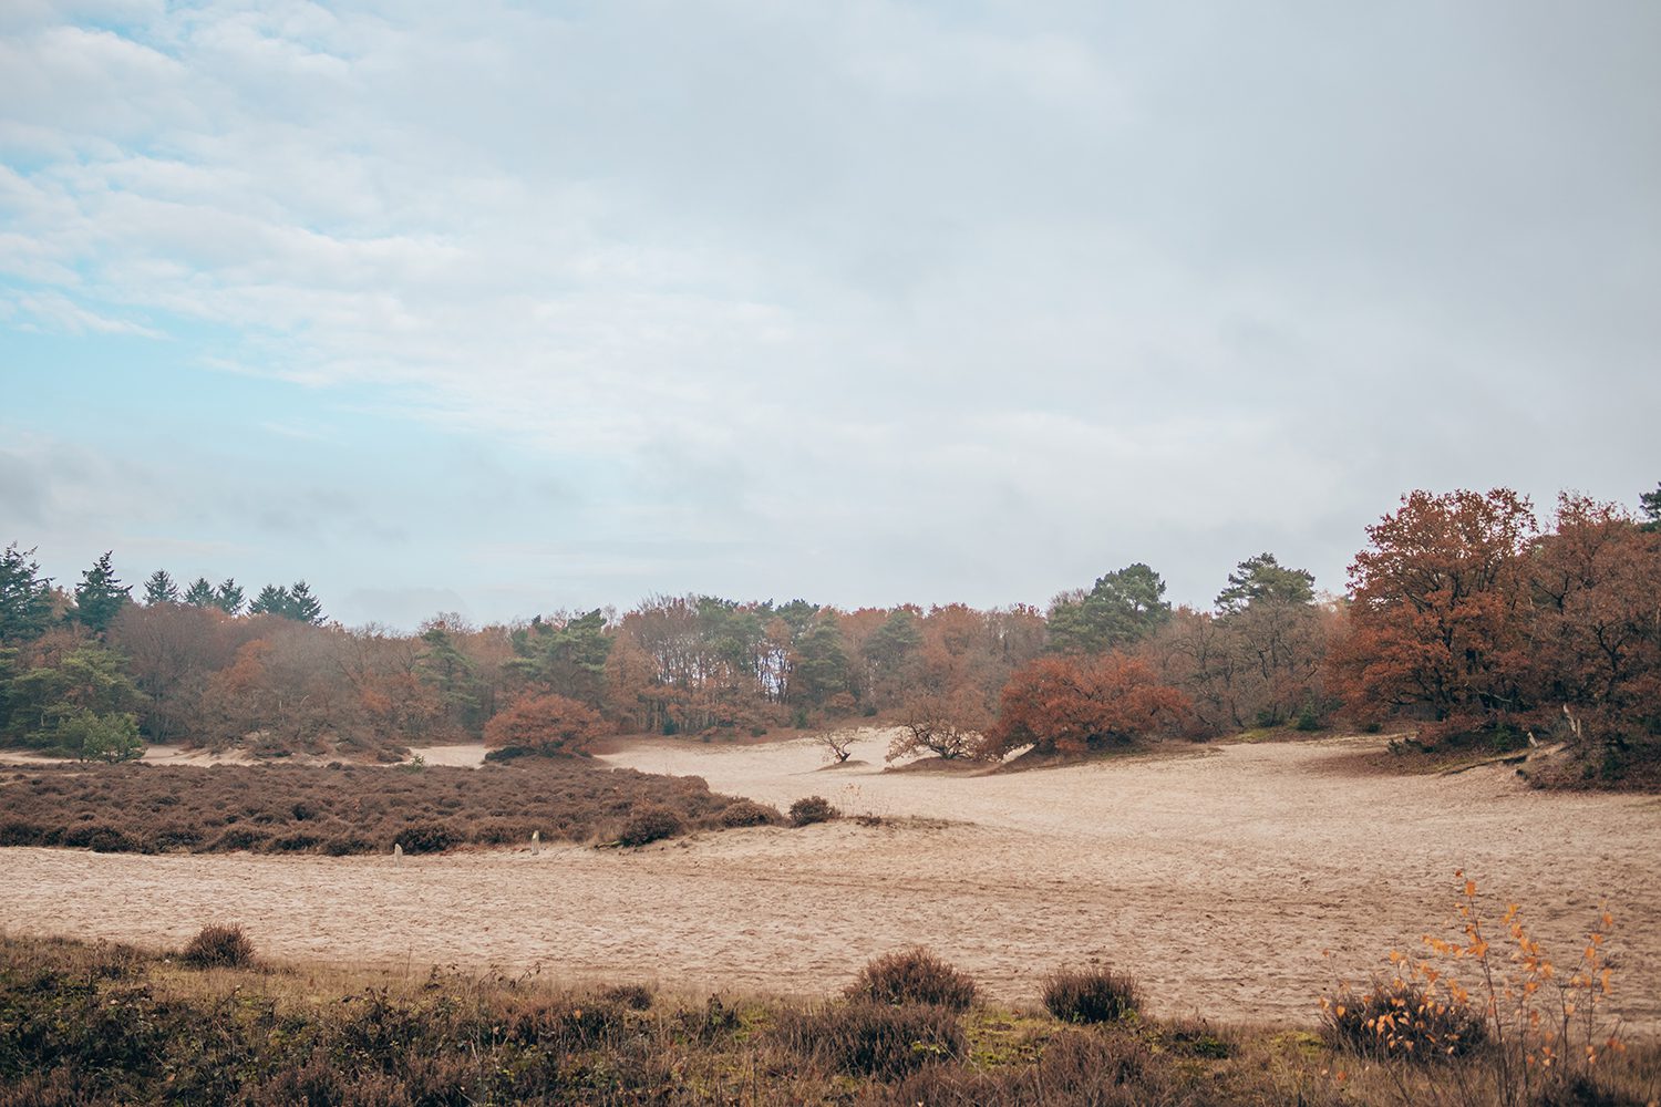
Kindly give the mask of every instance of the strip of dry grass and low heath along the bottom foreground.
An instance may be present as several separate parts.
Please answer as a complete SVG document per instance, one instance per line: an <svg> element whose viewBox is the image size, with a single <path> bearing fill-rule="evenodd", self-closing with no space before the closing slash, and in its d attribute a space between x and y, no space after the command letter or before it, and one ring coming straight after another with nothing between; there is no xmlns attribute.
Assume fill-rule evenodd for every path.
<svg viewBox="0 0 1661 1107"><path fill-rule="evenodd" d="M189 971L0 936L0 1107L22 1104L1495 1104L1487 1069L1362 1062L1311 1032L1036 1011L561 988L331 966ZM1548 1104L1644 1104L1631 1049ZM1570 1095L1575 1095L1573 1099Z"/></svg>

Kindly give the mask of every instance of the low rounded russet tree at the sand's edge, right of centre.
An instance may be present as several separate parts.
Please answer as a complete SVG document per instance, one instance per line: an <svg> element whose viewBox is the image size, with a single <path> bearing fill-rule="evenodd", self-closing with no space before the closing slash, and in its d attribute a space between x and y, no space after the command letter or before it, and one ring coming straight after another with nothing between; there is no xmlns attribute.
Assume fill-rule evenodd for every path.
<svg viewBox="0 0 1661 1107"><path fill-rule="evenodd" d="M1003 689L985 749L988 757L1003 757L1022 747L1083 753L1128 745L1178 727L1188 710L1188 697L1161 684L1141 659L1120 652L1041 657Z"/></svg>

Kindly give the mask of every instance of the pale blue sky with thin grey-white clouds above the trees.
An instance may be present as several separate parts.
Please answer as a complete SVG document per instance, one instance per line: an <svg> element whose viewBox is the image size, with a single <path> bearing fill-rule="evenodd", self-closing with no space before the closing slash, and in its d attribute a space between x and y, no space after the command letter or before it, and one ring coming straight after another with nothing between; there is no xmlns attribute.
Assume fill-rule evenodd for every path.
<svg viewBox="0 0 1661 1107"><path fill-rule="evenodd" d="M1045 604L1661 480L1649 0L5 0L0 544Z"/></svg>

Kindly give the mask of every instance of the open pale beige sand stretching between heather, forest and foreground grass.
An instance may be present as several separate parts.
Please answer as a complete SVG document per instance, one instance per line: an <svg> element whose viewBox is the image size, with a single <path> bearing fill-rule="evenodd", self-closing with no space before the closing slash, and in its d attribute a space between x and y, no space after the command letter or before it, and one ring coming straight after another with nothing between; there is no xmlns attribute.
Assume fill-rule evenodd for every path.
<svg viewBox="0 0 1661 1107"><path fill-rule="evenodd" d="M1548 951L1608 901L1618 1007L1661 1032L1661 800L1541 795L1510 770L1379 778L1354 742L962 777L819 772L807 742L648 742L608 760L762 800L821 793L947 827L822 825L639 851L437 858L0 850L0 926L183 943L241 919L282 958L493 964L676 988L824 992L925 943L995 996L1060 963L1131 968L1163 1012L1307 1022L1332 968L1452 914L1453 870L1525 906ZM1332 951L1324 961L1322 949Z"/></svg>

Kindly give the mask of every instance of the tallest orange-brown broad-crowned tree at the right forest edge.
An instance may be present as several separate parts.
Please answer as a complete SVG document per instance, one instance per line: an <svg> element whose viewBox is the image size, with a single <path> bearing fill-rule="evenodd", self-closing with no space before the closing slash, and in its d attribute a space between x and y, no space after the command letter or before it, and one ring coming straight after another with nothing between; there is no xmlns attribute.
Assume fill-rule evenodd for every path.
<svg viewBox="0 0 1661 1107"><path fill-rule="evenodd" d="M1349 626L1329 672L1364 719L1407 715L1430 735L1515 724L1528 710L1521 554L1528 500L1414 491L1367 528L1350 566Z"/></svg>

